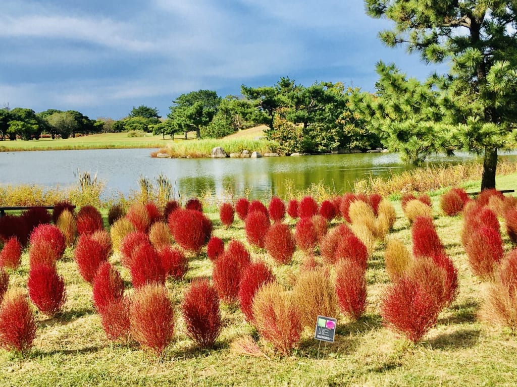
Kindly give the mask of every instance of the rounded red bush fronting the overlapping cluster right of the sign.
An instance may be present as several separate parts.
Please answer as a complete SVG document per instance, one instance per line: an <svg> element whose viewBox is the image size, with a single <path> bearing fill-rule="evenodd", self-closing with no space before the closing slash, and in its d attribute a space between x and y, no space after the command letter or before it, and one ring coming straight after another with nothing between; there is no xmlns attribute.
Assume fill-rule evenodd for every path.
<svg viewBox="0 0 517 387"><path fill-rule="evenodd" d="M415 278L403 276L381 301L384 324L417 343L436 324L440 306Z"/></svg>

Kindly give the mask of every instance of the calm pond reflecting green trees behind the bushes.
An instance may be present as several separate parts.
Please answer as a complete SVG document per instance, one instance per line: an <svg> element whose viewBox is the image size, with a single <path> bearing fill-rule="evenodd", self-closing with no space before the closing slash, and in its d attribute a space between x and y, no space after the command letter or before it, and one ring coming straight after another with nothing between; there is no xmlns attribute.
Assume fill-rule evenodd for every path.
<svg viewBox="0 0 517 387"><path fill-rule="evenodd" d="M349 191L356 179L388 176L412 168L396 153L328 154L261 159L156 159L150 149L95 149L31 152L0 152L0 184L38 184L70 187L78 171L97 174L105 195L127 195L138 190L140 177L153 183L163 173L183 197L209 191L216 197L233 192L252 198L285 196L286 186L305 189L323 181L337 192ZM514 156L505 156L517 160ZM427 165L461 163L475 156L436 155Z"/></svg>

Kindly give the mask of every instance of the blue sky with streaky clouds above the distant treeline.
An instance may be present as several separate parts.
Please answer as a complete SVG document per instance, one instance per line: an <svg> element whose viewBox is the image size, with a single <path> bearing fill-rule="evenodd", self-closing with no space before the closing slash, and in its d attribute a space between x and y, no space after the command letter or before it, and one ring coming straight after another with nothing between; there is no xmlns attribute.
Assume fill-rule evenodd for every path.
<svg viewBox="0 0 517 387"><path fill-rule="evenodd" d="M239 95L281 76L374 90L375 63L436 67L378 39L361 0L2 0L0 104L120 119L180 94ZM442 67L442 70L444 67ZM440 68L438 68L440 71ZM2 105L0 105L1 107Z"/></svg>

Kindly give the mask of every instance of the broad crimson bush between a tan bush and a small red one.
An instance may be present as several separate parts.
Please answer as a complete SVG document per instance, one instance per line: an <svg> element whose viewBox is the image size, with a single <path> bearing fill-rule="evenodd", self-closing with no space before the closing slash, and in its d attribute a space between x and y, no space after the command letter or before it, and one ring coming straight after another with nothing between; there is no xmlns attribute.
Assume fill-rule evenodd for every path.
<svg viewBox="0 0 517 387"><path fill-rule="evenodd" d="M173 216L174 215L174 216ZM171 222L171 218L174 220ZM178 209L169 217L169 228L182 249L199 253L210 240L212 224L202 212Z"/></svg>

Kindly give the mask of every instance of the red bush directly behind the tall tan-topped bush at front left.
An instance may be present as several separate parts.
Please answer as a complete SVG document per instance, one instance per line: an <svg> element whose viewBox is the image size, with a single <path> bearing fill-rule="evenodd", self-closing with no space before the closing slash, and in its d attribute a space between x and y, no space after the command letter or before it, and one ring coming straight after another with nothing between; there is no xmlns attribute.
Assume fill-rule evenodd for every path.
<svg viewBox="0 0 517 387"><path fill-rule="evenodd" d="M161 257L149 243L142 243L133 251L129 272L135 288L149 283L165 284L166 274Z"/></svg>

